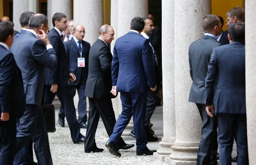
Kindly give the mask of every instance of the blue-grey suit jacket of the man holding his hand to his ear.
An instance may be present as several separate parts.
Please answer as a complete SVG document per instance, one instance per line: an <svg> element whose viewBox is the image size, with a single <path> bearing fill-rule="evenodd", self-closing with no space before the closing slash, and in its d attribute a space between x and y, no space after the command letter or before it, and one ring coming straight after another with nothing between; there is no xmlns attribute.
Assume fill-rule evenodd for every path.
<svg viewBox="0 0 256 165"><path fill-rule="evenodd" d="M41 107L44 69L57 68L54 49L47 50L45 44L32 32L26 32L12 45L12 53L22 73L26 104Z"/></svg>

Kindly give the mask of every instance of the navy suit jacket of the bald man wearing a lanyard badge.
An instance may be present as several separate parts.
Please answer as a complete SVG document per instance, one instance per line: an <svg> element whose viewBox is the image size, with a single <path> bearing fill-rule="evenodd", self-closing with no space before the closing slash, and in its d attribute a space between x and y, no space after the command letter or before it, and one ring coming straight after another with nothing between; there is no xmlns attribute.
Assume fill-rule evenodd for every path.
<svg viewBox="0 0 256 165"><path fill-rule="evenodd" d="M70 85L79 84L81 75L86 83L88 76L88 59L90 51L90 43L82 41L82 58L85 59L85 67L77 67L77 58L81 57L76 41L72 38L71 40L64 43L69 60L69 72L76 75L76 81L70 81Z"/></svg>

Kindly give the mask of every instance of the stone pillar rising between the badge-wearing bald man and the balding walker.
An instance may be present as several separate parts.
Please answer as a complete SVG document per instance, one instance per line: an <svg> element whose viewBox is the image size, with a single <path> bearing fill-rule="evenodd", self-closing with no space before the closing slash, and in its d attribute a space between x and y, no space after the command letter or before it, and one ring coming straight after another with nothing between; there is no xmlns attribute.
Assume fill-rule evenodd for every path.
<svg viewBox="0 0 256 165"><path fill-rule="evenodd" d="M103 0L74 0L74 26L84 26L84 40L91 45L99 38L103 25Z"/></svg>

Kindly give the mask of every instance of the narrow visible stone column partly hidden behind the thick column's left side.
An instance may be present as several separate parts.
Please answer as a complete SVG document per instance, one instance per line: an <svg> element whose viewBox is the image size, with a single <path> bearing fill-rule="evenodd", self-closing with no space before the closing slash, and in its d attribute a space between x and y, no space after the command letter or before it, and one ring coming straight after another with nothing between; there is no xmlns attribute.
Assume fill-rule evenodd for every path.
<svg viewBox="0 0 256 165"><path fill-rule="evenodd" d="M175 130L174 0L162 0L163 138L154 153L164 162L172 153Z"/></svg>

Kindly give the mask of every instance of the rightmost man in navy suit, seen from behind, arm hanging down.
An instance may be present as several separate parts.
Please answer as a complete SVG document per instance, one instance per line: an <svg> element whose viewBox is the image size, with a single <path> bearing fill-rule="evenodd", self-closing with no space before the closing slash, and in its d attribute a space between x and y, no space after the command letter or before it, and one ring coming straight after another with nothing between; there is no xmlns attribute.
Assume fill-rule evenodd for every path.
<svg viewBox="0 0 256 165"><path fill-rule="evenodd" d="M249 165L245 102L244 24L232 24L228 32L230 44L214 48L209 61L205 79L206 111L210 117L213 117L214 113L218 116L220 164L231 165L233 141L236 136L239 153L237 164ZM217 77L218 82L216 90L214 90ZM214 95L213 91L215 91Z"/></svg>

